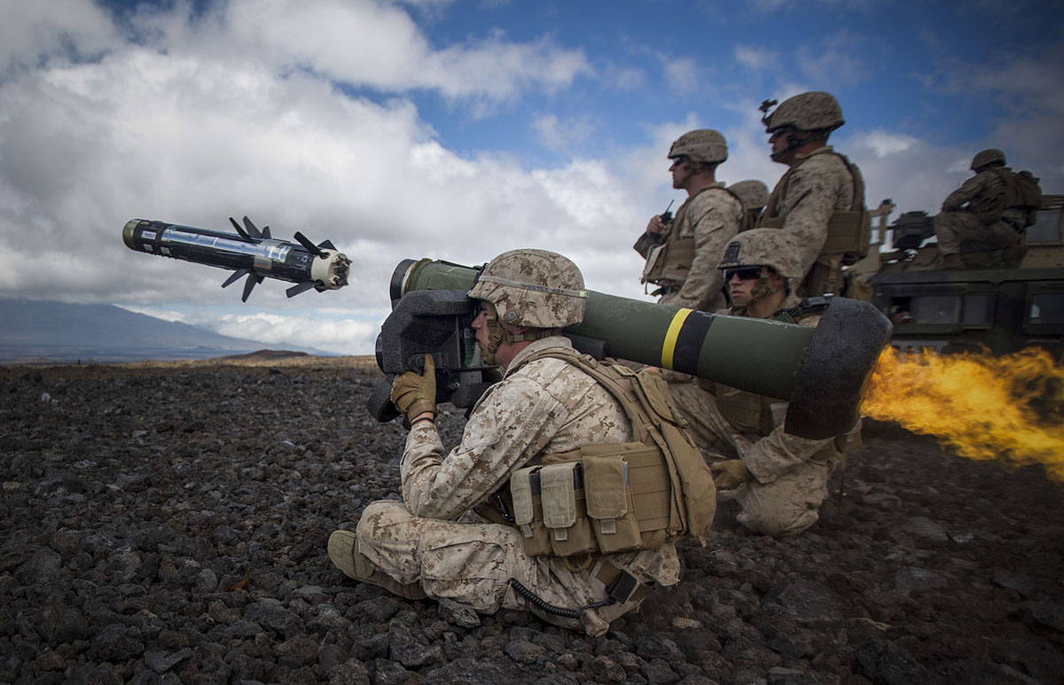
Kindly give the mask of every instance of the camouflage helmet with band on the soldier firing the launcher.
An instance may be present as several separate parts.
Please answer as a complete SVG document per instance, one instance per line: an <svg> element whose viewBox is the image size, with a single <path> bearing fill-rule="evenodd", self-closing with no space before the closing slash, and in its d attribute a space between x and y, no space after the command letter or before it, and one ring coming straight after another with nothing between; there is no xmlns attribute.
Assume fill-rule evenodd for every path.
<svg viewBox="0 0 1064 685"><path fill-rule="evenodd" d="M500 321L564 329L584 319L584 277L570 260L547 250L511 250L492 260L469 297L495 305Z"/></svg>

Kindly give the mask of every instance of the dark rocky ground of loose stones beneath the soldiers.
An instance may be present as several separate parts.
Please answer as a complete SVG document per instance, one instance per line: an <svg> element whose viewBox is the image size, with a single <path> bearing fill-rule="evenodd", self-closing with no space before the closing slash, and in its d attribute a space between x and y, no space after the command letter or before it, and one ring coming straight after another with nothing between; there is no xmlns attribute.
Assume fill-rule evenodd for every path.
<svg viewBox="0 0 1064 685"><path fill-rule="evenodd" d="M398 497L378 378L0 369L0 682L1064 682L1062 486L881 423L811 531L726 509L602 638L348 582L329 533Z"/></svg>

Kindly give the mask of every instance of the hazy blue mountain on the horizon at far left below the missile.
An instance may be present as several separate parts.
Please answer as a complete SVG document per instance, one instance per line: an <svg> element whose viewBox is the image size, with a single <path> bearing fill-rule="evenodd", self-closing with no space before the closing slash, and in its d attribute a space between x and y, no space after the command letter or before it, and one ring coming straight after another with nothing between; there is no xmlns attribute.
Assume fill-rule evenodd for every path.
<svg viewBox="0 0 1064 685"><path fill-rule="evenodd" d="M111 304L0 299L0 364L205 360L266 347L278 346L219 335ZM327 354L300 346L283 347Z"/></svg>

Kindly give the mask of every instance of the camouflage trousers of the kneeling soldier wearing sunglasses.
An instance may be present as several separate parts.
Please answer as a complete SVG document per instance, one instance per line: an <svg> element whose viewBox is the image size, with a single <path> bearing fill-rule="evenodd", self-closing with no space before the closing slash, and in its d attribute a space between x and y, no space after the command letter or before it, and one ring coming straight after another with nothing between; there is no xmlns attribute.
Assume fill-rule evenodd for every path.
<svg viewBox="0 0 1064 685"><path fill-rule="evenodd" d="M738 458L760 436L735 431L717 410L716 398L697 381L669 385L677 410L687 420L692 437L706 462ZM820 504L828 497L828 480L843 458L825 450L826 440L810 440L787 433L771 441L780 462L788 464L775 480L748 481L734 490L717 490L721 499L733 499L739 512L735 519L755 533L782 537L796 535L820 518ZM768 439L768 438L764 438ZM769 448L770 450L772 448ZM794 464L795 457L804 457Z"/></svg>

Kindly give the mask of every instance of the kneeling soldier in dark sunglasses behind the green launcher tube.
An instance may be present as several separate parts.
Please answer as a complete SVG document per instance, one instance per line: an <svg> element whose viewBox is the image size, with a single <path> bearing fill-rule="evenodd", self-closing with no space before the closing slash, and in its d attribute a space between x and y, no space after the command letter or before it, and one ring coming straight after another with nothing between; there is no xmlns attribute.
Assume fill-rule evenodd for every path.
<svg viewBox="0 0 1064 685"><path fill-rule="evenodd" d="M795 237L777 229L754 229L733 238L719 268L732 306L718 314L749 316L815 328L828 299L799 299L801 283ZM738 522L764 535L795 535L819 518L828 479L860 440L860 422L850 433L824 440L784 431L787 403L701 382L708 406L697 420L699 447L711 460L718 490L733 490ZM686 403L680 403L681 413ZM729 452L736 458L727 458Z"/></svg>

